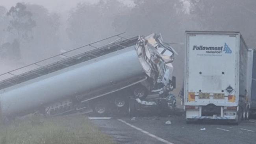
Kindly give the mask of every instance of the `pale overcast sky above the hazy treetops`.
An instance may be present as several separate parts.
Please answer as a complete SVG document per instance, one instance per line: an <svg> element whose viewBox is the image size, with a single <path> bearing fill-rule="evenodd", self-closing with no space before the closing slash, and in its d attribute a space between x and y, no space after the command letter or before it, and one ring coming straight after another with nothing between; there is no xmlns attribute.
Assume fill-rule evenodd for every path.
<svg viewBox="0 0 256 144"><path fill-rule="evenodd" d="M79 2L88 2L88 3L96 3L99 0L1 0L0 6L5 6L9 9L11 6L15 6L17 2L25 2L29 4L38 4L46 7L49 11L54 12L62 12L72 9L76 7L76 4ZM132 6L132 0L120 0L127 4L128 6Z"/></svg>

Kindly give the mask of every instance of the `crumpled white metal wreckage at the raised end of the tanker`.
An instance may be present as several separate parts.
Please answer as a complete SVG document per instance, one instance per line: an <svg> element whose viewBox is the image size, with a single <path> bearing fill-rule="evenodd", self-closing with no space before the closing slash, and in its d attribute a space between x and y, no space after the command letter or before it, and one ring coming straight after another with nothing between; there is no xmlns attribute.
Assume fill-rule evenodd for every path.
<svg viewBox="0 0 256 144"><path fill-rule="evenodd" d="M161 34L151 34L147 37L139 36L135 46L139 61L148 76L154 78L155 83L163 83L165 86L175 87L173 78L174 54L177 54L171 46L162 42ZM153 76L151 76L153 75ZM158 78L155 76L158 75ZM173 89L173 88L172 88Z"/></svg>

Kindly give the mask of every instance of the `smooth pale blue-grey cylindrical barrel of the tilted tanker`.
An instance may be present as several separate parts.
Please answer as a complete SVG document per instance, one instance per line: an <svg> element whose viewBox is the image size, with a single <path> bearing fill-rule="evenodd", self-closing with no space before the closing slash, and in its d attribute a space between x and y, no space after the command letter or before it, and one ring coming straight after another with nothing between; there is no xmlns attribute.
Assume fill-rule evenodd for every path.
<svg viewBox="0 0 256 144"><path fill-rule="evenodd" d="M131 46L0 90L2 115L31 113L49 103L111 85L111 81L137 76L142 78L145 73Z"/></svg>

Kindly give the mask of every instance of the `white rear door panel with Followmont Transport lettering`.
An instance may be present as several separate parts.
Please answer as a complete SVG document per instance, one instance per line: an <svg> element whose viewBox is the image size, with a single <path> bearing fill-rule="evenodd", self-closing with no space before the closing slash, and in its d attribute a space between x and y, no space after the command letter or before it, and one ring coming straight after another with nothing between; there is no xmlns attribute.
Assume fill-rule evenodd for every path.
<svg viewBox="0 0 256 144"><path fill-rule="evenodd" d="M238 104L239 33L186 32L185 105Z"/></svg>

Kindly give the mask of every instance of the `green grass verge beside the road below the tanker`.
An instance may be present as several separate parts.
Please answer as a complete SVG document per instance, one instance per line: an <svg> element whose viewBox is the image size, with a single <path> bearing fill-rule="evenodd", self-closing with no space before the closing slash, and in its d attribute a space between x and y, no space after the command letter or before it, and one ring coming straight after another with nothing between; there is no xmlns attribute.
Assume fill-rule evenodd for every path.
<svg viewBox="0 0 256 144"><path fill-rule="evenodd" d="M113 144L81 115L29 116L0 126L0 144Z"/></svg>

